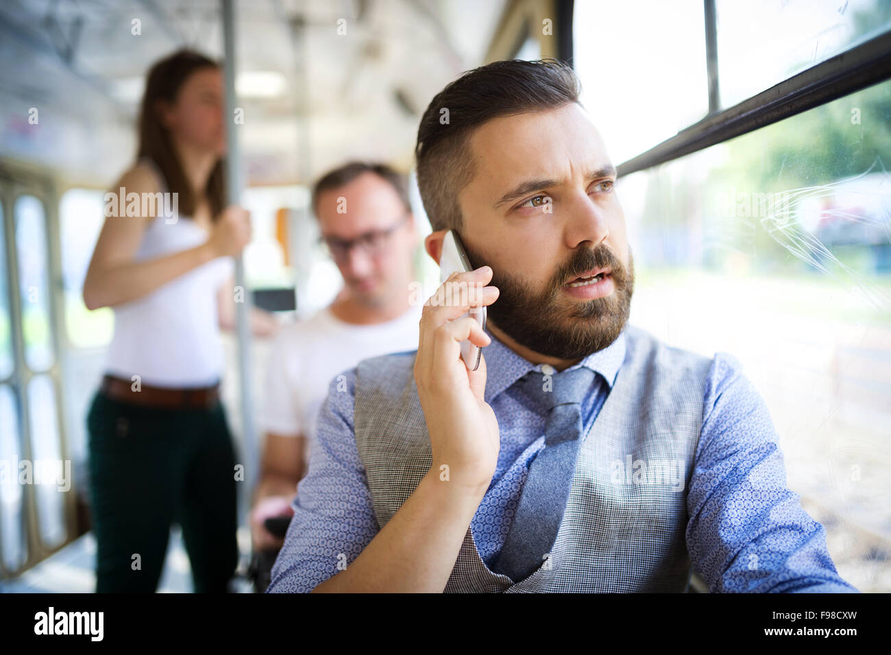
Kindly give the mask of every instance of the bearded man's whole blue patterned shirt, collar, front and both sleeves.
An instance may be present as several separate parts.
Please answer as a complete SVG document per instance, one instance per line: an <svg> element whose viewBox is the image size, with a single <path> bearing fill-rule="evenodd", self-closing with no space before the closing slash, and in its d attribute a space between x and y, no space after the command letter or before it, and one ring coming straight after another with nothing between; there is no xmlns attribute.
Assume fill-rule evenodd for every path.
<svg viewBox="0 0 891 655"><path fill-rule="evenodd" d="M530 409L514 382L541 371L486 330L486 403L498 419L495 475L470 529L490 566L501 550L529 463L544 448L544 416ZM582 402L590 430L625 360L625 332L570 368L587 366L596 383ZM841 577L825 531L786 487L778 439L741 364L727 353L711 363L704 416L687 495L686 529L693 566L713 592L856 592ZM317 423L306 477L300 481L270 593L307 593L354 561L379 531L354 435L356 368L330 384ZM757 553L749 570L748 553ZM767 553L767 554L765 554ZM765 571L767 575L765 575Z"/></svg>

